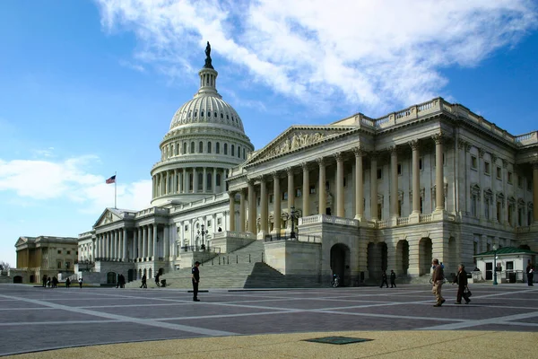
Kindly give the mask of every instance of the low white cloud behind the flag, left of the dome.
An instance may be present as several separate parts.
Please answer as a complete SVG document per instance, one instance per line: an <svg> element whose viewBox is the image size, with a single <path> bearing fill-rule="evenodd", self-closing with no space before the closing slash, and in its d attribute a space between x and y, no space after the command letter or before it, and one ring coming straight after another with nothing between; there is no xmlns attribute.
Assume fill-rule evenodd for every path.
<svg viewBox="0 0 538 359"><path fill-rule="evenodd" d="M114 206L114 185L105 177L85 169L99 162L96 156L81 156L64 161L0 159L0 191L14 191L22 206L31 200L64 199L83 213L99 214ZM124 183L117 177L117 206L140 210L150 205L152 181Z"/></svg>

